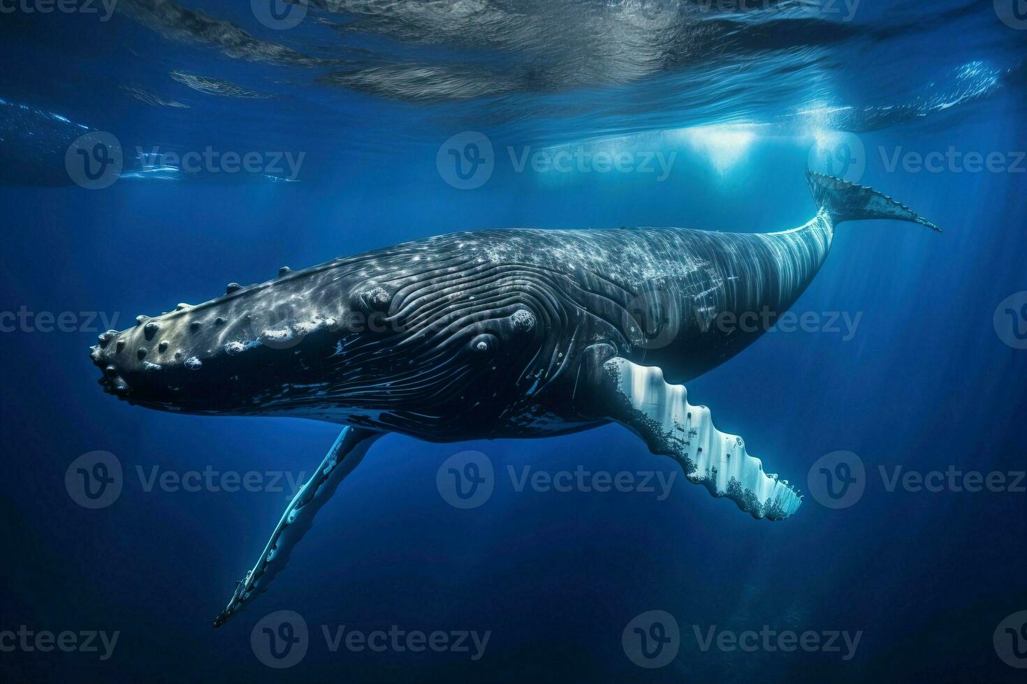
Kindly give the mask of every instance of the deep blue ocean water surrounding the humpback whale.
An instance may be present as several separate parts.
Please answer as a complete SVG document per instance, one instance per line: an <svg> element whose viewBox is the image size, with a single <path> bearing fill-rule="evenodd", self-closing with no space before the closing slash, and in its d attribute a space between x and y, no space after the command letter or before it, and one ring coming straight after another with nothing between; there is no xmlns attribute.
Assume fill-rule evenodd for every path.
<svg viewBox="0 0 1027 684"><path fill-rule="evenodd" d="M102 658L99 640L99 652L41 651L0 634L0 681L1022 681L1009 661L1027 665L1015 616L1027 610L1027 16L1007 4L353 1L314 3L294 28L275 23L297 6L259 2L122 0L109 16L4 4L0 633L119 636ZM103 189L65 163L90 131L120 144ZM482 139L492 150L476 156L466 145ZM467 178L450 149L469 155ZM183 168L207 150L222 161ZM599 167L597 155L627 155L631 168L530 161L560 150ZM226 170L231 153L255 153L259 172ZM782 230L815 211L811 165L944 233L842 225L793 308L817 325L768 332L688 392L803 490L825 454L858 454L858 500L806 494L793 518L756 521L615 425L454 444L389 435L268 593L212 628L289 478L310 475L338 426L115 401L88 359L105 319L122 329L282 265L458 230ZM66 472L97 450L123 475L117 499L90 510ZM471 510L436 487L464 450L496 472ZM519 491L508 468L679 479L662 498L658 485ZM204 471L263 485L148 484ZM971 471L1004 484L968 491ZM897 472L959 474L928 491L889 486ZM281 669L254 646L278 610L309 630ZM653 610L680 638L649 669L622 636ZM489 640L481 653L333 650L322 628L343 626ZM711 630L728 646L703 648ZM761 631L774 636L741 636ZM807 632L859 641L779 647Z"/></svg>

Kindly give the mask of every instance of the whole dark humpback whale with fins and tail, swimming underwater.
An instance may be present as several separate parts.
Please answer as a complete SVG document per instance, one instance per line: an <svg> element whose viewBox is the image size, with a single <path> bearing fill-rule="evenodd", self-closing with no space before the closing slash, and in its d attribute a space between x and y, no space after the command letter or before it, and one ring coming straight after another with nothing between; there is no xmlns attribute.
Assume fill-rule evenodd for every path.
<svg viewBox="0 0 1027 684"><path fill-rule="evenodd" d="M219 627L264 592L317 510L390 432L433 442L546 437L618 423L690 482L754 518L800 493L685 384L771 326L816 275L835 228L939 231L870 188L809 173L816 212L777 233L680 228L453 233L340 257L140 316L91 348L104 390L147 408L344 426L236 582ZM712 325L759 313L760 326Z"/></svg>

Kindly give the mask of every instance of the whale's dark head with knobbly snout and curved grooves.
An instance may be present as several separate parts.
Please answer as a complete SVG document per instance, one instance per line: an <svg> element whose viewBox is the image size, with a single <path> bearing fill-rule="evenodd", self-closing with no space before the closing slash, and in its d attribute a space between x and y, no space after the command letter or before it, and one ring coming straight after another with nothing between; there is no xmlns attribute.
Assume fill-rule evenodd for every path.
<svg viewBox="0 0 1027 684"><path fill-rule="evenodd" d="M106 392L148 408L402 429L531 379L538 313L502 290L410 254L337 259L141 316L90 357Z"/></svg>

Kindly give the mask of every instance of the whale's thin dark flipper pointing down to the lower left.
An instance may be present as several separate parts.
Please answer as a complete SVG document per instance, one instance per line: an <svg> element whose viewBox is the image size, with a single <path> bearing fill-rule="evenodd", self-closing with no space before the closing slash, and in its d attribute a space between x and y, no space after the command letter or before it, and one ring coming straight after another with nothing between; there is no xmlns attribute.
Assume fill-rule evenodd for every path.
<svg viewBox="0 0 1027 684"><path fill-rule="evenodd" d="M214 620L215 627L227 622L267 589L274 576L286 567L293 549L310 529L314 515L332 497L343 478L360 462L372 442L381 435L380 432L352 427L339 433L317 471L290 501L264 547L260 560L246 572L245 577L236 582L231 600Z"/></svg>

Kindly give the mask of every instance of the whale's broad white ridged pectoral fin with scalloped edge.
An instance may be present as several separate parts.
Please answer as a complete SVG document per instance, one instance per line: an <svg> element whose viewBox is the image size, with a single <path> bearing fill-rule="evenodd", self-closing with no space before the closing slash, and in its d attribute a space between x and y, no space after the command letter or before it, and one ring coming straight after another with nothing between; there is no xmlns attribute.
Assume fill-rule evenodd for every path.
<svg viewBox="0 0 1027 684"><path fill-rule="evenodd" d="M653 453L674 456L690 482L724 496L754 518L784 520L802 497L787 480L763 472L740 437L717 430L706 406L692 406L683 385L668 385L659 368L620 357L603 364L603 387L614 393L609 417L642 437Z"/></svg>

